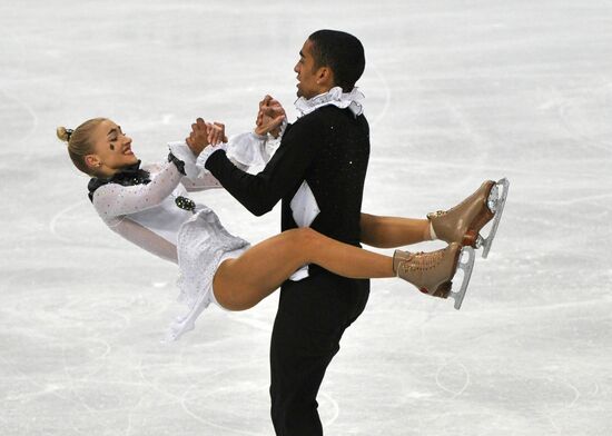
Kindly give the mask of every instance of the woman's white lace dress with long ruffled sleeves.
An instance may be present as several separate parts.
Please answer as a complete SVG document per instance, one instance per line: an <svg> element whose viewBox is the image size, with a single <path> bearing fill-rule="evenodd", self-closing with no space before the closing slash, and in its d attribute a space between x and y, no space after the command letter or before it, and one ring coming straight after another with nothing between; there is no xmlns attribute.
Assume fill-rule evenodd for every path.
<svg viewBox="0 0 612 436"><path fill-rule="evenodd" d="M251 174L265 167L275 147L277 141L254 133L240 135L224 146L233 161ZM176 340L194 329L197 317L210 303L216 303L213 277L219 264L238 257L249 244L230 235L207 206L196 202L193 211L177 206L176 199L189 191L221 186L201 165L207 156L196 160L185 142L171 142L169 148L185 162L187 176L172 162L147 166L142 169L149 171L150 182L102 185L93 191L92 202L112 231L178 264L178 299L188 310L170 325L167 338Z"/></svg>

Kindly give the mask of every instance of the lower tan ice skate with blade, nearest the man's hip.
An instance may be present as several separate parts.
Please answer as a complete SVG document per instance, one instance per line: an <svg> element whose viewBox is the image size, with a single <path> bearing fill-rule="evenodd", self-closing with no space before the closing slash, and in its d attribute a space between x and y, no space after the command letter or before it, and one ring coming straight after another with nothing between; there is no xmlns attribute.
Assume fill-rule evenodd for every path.
<svg viewBox="0 0 612 436"><path fill-rule="evenodd" d="M465 260L462 258L466 257ZM432 252L408 252L395 250L393 270L397 277L416 286L424 294L440 298L452 297L455 309L461 308L474 268L474 249L451 242L448 247ZM453 277L463 269L463 281L458 291L453 291Z"/></svg>

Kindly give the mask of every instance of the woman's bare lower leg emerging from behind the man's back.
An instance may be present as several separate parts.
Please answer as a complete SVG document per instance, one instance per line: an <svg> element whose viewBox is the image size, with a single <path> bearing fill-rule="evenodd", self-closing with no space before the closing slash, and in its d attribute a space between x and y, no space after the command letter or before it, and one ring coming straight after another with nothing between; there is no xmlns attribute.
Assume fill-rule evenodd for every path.
<svg viewBox="0 0 612 436"><path fill-rule="evenodd" d="M362 242L377 248L404 247L431 240L430 220L363 214Z"/></svg>

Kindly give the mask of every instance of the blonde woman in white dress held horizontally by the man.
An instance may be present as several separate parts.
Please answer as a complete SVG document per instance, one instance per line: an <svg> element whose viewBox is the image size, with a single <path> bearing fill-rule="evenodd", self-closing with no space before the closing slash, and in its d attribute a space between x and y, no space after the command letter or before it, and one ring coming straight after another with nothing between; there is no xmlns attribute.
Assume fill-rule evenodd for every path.
<svg viewBox="0 0 612 436"><path fill-rule="evenodd" d="M448 242L437 251L396 250L389 257L336 241L308 227L250 246L230 235L210 208L186 197L187 191L220 188L198 165L198 155L208 145L227 141L223 125L198 119L193 128L204 131L205 139L196 141L191 136L186 142L171 142L168 161L144 168L131 150L131 139L109 119L90 119L73 131L57 129L75 166L92 177L89 199L105 224L141 248L178 264L179 300L189 311L170 326L169 339L193 329L210 303L228 310L248 309L307 264L351 278L398 276L423 293L453 296L461 304L474 261L470 245L476 246L478 231L495 215L495 182L485 181L457 207L431 214L427 219L362 214L364 244L391 248L437 237ZM267 133L265 127L258 127L223 146L235 165L256 172L270 157ZM461 261L465 250L471 252L467 264ZM466 271L462 290L454 293L451 280L457 267Z"/></svg>

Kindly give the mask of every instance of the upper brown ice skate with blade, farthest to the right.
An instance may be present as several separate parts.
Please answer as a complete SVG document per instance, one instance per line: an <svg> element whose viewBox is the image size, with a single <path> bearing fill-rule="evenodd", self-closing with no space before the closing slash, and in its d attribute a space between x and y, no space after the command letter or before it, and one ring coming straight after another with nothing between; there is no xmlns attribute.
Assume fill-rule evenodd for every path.
<svg viewBox="0 0 612 436"><path fill-rule="evenodd" d="M500 186L503 187L501 195ZM483 258L486 258L502 219L509 187L510 181L505 178L497 182L487 180L452 209L428 214L427 219L432 222L436 237L448 244L483 247ZM491 231L484 238L480 231L491 220L493 220Z"/></svg>

